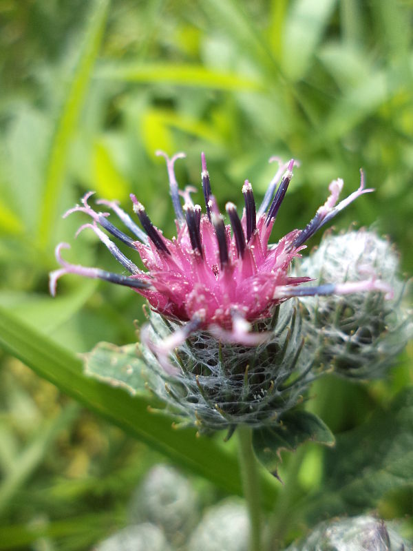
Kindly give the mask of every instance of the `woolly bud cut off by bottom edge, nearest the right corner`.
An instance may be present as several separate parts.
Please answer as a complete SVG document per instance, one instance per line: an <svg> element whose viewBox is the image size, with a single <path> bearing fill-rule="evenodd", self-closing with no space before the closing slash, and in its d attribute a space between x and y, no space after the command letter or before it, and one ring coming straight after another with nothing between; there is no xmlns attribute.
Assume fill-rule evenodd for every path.
<svg viewBox="0 0 413 551"><path fill-rule="evenodd" d="M410 545L396 530L374 517L337 519L319 524L286 551L407 551Z"/></svg>

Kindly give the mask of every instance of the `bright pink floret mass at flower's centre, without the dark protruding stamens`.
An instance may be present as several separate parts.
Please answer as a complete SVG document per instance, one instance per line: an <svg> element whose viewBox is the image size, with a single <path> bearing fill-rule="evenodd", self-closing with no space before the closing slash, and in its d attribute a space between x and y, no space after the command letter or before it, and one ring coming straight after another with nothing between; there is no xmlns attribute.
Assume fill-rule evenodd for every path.
<svg viewBox="0 0 413 551"><path fill-rule="evenodd" d="M274 298L277 287L309 280L288 276L291 260L299 253L287 245L299 230L268 248L264 242L268 232L263 232L263 225L259 224L241 258L237 256L235 237L231 238L231 227L226 226L229 262L224 267L220 266L214 233L212 223L203 215L200 222L203 258L191 247L186 226L180 229L178 238L164 239L170 256L155 247L136 244L153 287L136 291L145 296L158 313L188 321L202 309L204 326L215 324L228 329L235 312L248 322L270 317L273 306L282 302Z"/></svg>

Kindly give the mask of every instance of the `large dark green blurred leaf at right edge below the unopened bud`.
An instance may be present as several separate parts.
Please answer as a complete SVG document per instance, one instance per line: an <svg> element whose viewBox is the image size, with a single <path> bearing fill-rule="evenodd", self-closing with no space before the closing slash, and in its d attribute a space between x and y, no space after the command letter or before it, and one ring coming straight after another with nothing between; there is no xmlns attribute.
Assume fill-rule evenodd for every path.
<svg viewBox="0 0 413 551"><path fill-rule="evenodd" d="M397 395L388 410L339 435L326 453L324 488L306 503L311 521L358 514L377 506L388 490L413 484L413 388Z"/></svg>

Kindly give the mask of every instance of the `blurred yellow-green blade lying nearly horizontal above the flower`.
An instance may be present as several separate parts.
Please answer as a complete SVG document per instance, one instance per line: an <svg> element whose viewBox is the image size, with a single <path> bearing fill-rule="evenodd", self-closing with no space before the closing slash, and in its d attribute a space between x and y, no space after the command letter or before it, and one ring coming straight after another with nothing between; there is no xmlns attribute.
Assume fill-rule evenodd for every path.
<svg viewBox="0 0 413 551"><path fill-rule="evenodd" d="M214 90L259 90L262 87L256 80L241 74L174 63L116 63L101 67L97 76L115 81L168 83Z"/></svg>

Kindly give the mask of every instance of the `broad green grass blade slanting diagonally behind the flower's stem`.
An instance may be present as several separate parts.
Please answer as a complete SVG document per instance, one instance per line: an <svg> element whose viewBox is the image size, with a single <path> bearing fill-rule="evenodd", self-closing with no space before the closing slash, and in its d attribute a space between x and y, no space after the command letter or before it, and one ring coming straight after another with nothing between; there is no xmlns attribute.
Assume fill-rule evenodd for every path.
<svg viewBox="0 0 413 551"><path fill-rule="evenodd" d="M61 391L182 468L209 479L226 492L242 495L237 458L228 446L206 437L196 438L194 429L174 430L169 417L148 410L151 402L143 393L132 397L120 388L85 377L80 358L1 308L0 346ZM264 506L270 509L277 490L265 472L260 475Z"/></svg>

